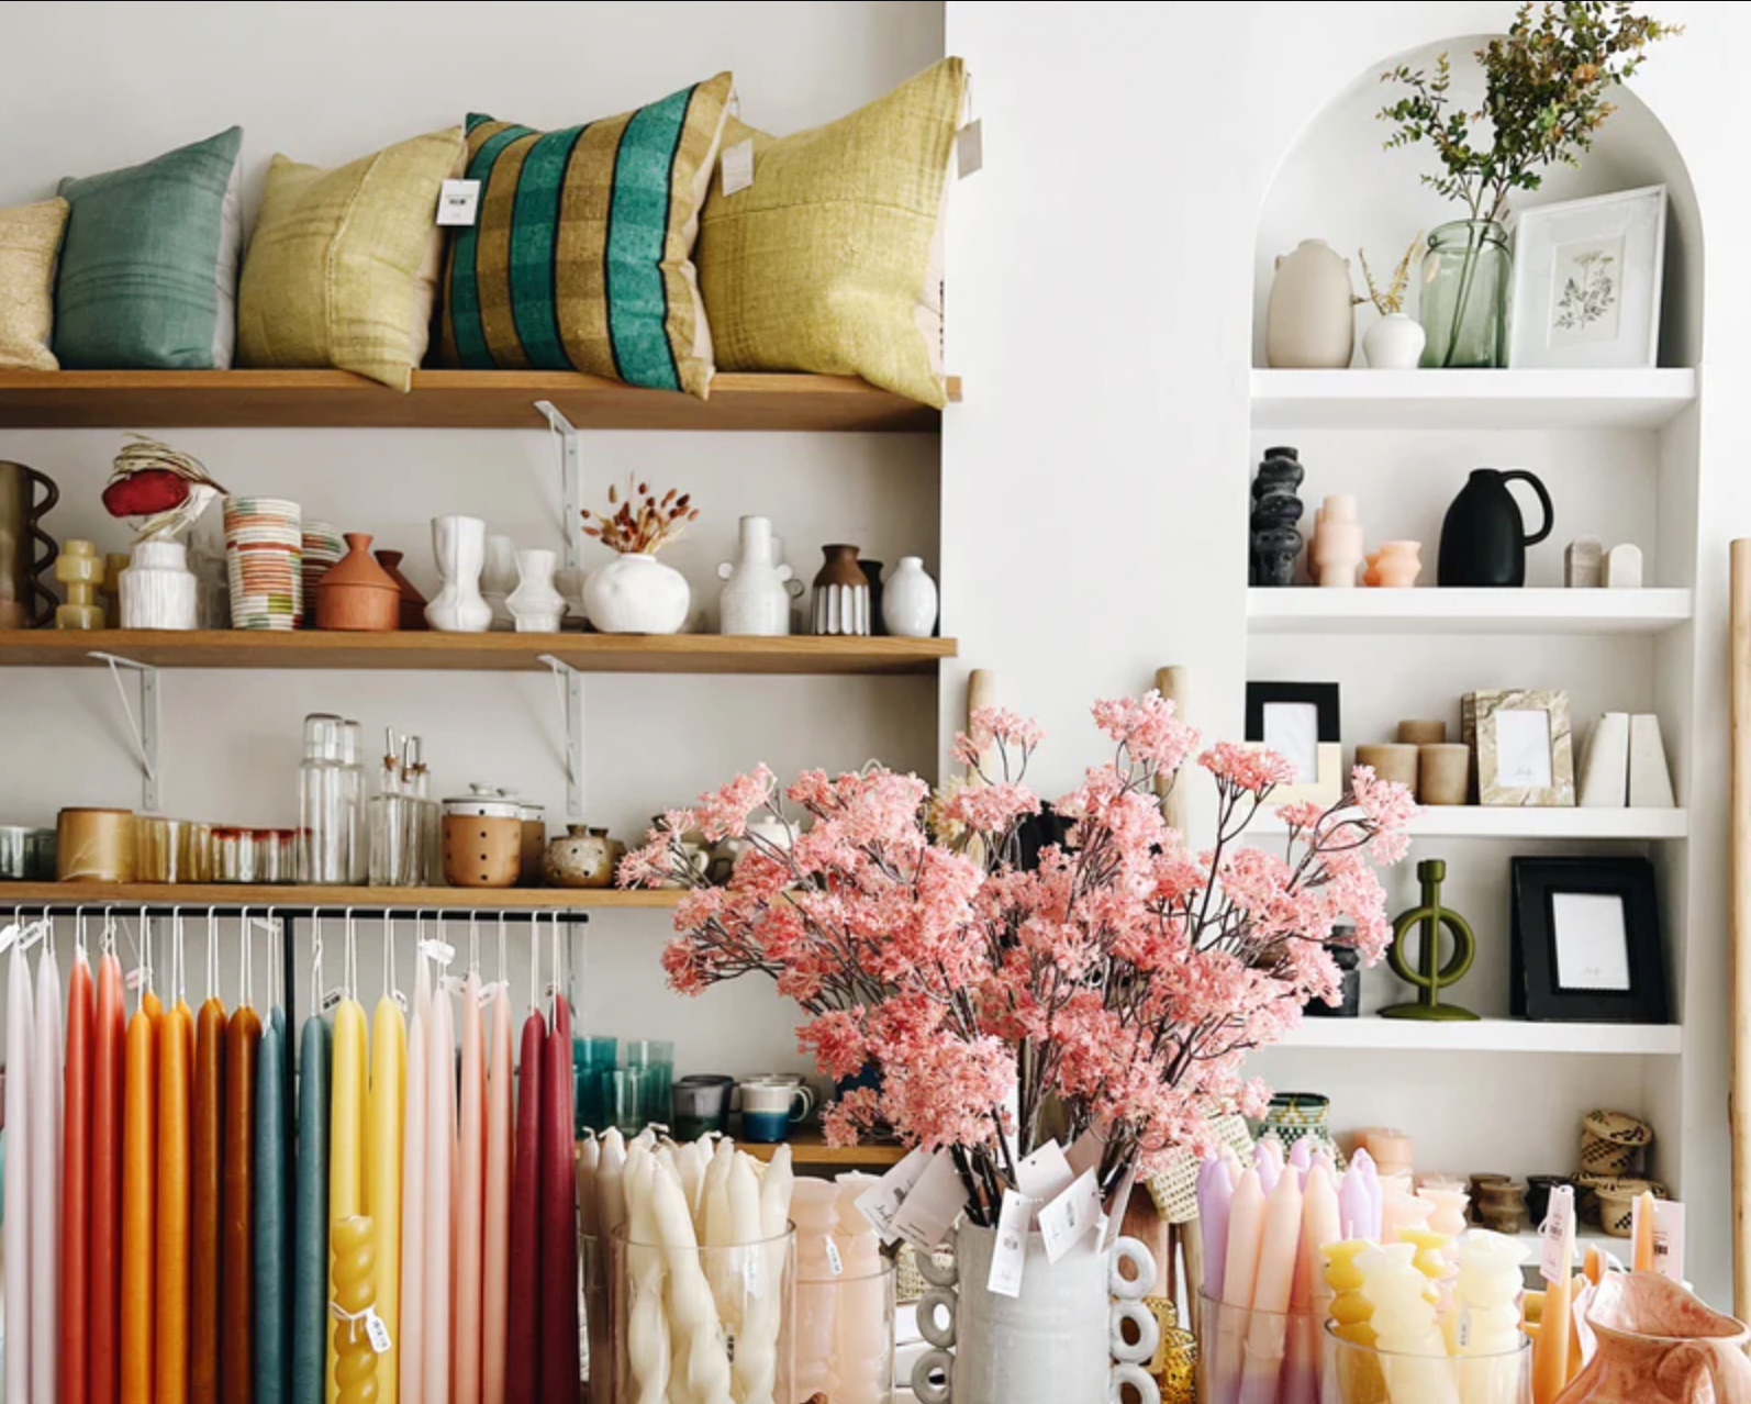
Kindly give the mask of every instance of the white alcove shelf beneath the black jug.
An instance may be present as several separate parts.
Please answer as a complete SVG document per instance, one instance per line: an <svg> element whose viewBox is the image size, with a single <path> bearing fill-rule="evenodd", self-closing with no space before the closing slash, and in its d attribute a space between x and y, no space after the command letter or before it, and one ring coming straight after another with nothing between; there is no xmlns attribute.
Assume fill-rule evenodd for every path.
<svg viewBox="0 0 1751 1404"><path fill-rule="evenodd" d="M1660 634L1690 590L1248 590L1254 634Z"/></svg>

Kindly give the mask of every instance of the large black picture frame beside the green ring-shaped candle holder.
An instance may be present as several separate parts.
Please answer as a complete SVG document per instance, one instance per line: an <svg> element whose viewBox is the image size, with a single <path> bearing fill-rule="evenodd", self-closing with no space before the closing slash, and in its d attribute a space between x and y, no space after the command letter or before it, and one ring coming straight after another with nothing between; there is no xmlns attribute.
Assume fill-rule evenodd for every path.
<svg viewBox="0 0 1751 1404"><path fill-rule="evenodd" d="M1513 1014L1534 1022L1669 1024L1665 951L1653 863L1646 858L1515 858ZM1621 952L1606 966L1621 975L1564 984L1569 935L1562 898L1621 903ZM1572 905L1572 903L1571 903ZM1613 935L1606 937L1614 940ZM1621 987L1613 987L1621 980Z"/></svg>

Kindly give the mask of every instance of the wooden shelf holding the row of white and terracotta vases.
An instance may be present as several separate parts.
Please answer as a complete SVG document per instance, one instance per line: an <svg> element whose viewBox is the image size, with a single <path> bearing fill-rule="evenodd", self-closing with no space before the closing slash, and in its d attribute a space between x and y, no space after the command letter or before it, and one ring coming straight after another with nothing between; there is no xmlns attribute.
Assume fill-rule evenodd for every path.
<svg viewBox="0 0 1751 1404"><path fill-rule="evenodd" d="M165 669L534 672L541 655L580 672L932 674L954 639L749 639L725 634L165 634L109 628L0 632L0 667L102 667L116 653Z"/></svg>

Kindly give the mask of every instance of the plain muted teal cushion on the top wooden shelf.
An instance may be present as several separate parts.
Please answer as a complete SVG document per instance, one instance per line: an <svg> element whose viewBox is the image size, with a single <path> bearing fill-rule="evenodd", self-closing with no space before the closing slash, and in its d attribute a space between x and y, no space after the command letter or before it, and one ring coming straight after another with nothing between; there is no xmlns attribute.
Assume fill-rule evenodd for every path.
<svg viewBox="0 0 1751 1404"><path fill-rule="evenodd" d="M140 166L61 182L70 210L54 292L61 369L231 366L243 128Z"/></svg>

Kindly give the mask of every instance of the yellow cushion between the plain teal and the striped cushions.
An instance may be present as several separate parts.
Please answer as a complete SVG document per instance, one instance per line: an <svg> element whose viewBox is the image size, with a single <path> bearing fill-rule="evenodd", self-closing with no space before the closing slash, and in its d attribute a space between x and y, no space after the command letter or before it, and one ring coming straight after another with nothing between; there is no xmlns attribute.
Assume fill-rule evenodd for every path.
<svg viewBox="0 0 1751 1404"><path fill-rule="evenodd" d="M275 156L238 285L238 364L410 389L443 266L438 194L462 158L459 126L338 170Z"/></svg>

